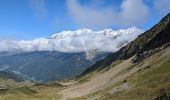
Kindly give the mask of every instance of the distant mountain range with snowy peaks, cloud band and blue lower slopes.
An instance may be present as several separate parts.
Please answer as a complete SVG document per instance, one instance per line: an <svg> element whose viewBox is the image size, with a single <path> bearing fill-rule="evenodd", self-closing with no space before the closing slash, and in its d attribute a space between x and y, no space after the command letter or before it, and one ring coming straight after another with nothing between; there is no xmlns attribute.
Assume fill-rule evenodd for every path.
<svg viewBox="0 0 170 100"><path fill-rule="evenodd" d="M71 78L142 32L136 27L118 31L80 29L63 31L50 38L0 41L0 71L11 71L38 82Z"/></svg>

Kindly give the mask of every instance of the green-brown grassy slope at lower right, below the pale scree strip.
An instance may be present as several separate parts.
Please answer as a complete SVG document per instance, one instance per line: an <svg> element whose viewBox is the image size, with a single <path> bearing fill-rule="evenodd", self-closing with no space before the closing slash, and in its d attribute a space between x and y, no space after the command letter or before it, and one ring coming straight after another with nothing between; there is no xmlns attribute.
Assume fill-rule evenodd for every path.
<svg viewBox="0 0 170 100"><path fill-rule="evenodd" d="M145 59L136 66L139 70L126 80L122 80L108 88L73 100L152 100L158 97L161 90L170 89L170 48L150 58ZM133 69L133 68L132 68ZM131 70L131 69L128 69ZM124 73L128 72L124 71ZM121 85L128 83L129 88L121 89ZM117 89L116 92L111 92ZM169 95L169 94L168 94Z"/></svg>

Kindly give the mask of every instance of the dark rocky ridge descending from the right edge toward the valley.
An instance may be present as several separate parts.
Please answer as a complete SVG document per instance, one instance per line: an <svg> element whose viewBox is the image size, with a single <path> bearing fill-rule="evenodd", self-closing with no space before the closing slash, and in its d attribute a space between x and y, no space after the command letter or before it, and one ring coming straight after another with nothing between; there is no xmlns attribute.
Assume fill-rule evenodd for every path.
<svg viewBox="0 0 170 100"><path fill-rule="evenodd" d="M156 30L158 32L154 32L154 30ZM164 30L166 30L166 32L164 32ZM153 32L155 34L153 34ZM154 40L155 38L156 38L157 41L159 41L159 39L161 39L160 43L156 43L156 44L153 45L155 48L159 47L159 46L162 46L163 43L165 44L165 43L170 42L170 34L169 34L169 32L170 32L170 13L167 14L163 19L161 19L161 21L158 24L156 24L155 26L153 26L150 30L148 30L148 31L144 32L143 34L139 35L134 41L132 41L131 43L129 43L126 46L122 47L119 51L117 51L115 53L112 53L112 54L108 55L105 59L96 62L96 64L94 64L91 67L89 67L88 69L86 69L78 77L82 77L82 76L84 76L84 75L86 75L86 74L88 74L90 72L95 71L96 69L100 69L100 68L102 69L102 68L110 65L114 60L128 59L128 58L134 56L135 54L136 54L136 58L133 59L133 61L136 62L136 61L138 61L138 59L141 59L141 57L144 55L143 54L144 51L149 50L149 49L145 49L145 48L148 45L150 45L149 43L153 44L153 42L155 41ZM148 40L143 39L144 37L148 38L148 36L151 36L150 39L151 40L153 39L153 42L150 39L148 39ZM142 45L144 47L142 47L142 46L140 47L139 45ZM168 45L169 44L167 44L167 46ZM160 50L157 50L157 52L158 51L160 51Z"/></svg>

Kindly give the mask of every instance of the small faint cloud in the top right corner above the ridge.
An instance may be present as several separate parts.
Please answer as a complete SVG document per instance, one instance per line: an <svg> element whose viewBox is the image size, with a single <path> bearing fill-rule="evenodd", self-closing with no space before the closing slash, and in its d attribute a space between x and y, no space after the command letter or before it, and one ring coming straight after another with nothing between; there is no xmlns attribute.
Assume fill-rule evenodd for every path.
<svg viewBox="0 0 170 100"><path fill-rule="evenodd" d="M163 15L170 12L170 0L155 0L154 6Z"/></svg>

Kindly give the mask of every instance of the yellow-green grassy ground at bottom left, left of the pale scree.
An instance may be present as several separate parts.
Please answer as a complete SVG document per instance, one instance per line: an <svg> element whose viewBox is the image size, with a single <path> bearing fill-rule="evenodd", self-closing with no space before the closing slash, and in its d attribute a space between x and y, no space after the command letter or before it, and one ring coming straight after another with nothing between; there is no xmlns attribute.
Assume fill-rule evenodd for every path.
<svg viewBox="0 0 170 100"><path fill-rule="evenodd" d="M58 84L35 85L30 82L0 80L0 85L9 86L8 90L0 90L0 100L60 100Z"/></svg>

